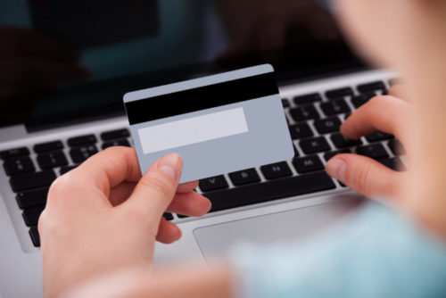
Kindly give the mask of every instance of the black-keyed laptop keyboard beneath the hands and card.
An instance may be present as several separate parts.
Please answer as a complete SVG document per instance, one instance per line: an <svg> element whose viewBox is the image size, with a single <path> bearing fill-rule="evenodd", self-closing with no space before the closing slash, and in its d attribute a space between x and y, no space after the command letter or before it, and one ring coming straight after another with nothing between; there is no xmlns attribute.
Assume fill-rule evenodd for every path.
<svg viewBox="0 0 446 298"><path fill-rule="evenodd" d="M341 124L354 109L375 95L385 94L386 90L383 81L376 81L357 86L357 92L351 87L327 90L325 99L322 93L283 98L294 144L293 160L200 180L199 191L212 202L210 212L345 187L336 186L324 170L325 162L338 153L359 153L389 168L402 169L398 156L403 150L397 153L401 144L392 135L378 131L350 140L339 133ZM122 128L105 131L98 137L95 134L70 137L66 146L62 140L54 140L32 148L0 152L4 171L10 177L12 191L35 246L40 246L37 222L54 179L99 150L114 145L130 146L129 137L128 129ZM174 219L170 213L164 217Z"/></svg>

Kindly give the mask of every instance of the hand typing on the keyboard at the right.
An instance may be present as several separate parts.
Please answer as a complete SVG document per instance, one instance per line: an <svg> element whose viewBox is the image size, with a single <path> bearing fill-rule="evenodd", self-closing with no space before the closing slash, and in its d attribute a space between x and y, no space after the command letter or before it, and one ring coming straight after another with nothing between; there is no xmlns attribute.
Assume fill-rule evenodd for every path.
<svg viewBox="0 0 446 298"><path fill-rule="evenodd" d="M345 120L341 127L344 137L358 139L377 130L394 135L410 155L407 142L408 102L391 95L376 96ZM361 195L370 198L385 198L392 203L403 201L403 188L407 172L391 170L378 161L358 154L335 155L326 164L327 173L350 186Z"/></svg>

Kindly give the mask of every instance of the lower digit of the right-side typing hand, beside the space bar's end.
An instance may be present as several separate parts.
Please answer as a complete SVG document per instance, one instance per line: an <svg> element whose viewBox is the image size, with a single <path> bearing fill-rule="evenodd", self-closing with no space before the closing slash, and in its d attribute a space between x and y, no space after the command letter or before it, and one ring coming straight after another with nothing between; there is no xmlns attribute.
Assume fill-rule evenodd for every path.
<svg viewBox="0 0 446 298"><path fill-rule="evenodd" d="M356 154L335 155L326 163L326 172L369 198L399 198L401 173L378 161Z"/></svg>

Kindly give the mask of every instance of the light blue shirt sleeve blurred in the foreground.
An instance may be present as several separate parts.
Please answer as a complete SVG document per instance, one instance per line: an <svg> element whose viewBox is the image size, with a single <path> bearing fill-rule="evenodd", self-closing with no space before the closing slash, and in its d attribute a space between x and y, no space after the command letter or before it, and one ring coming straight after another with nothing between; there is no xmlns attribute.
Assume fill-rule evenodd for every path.
<svg viewBox="0 0 446 298"><path fill-rule="evenodd" d="M232 253L239 297L446 297L446 244L377 203L306 244Z"/></svg>

